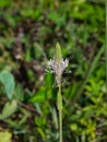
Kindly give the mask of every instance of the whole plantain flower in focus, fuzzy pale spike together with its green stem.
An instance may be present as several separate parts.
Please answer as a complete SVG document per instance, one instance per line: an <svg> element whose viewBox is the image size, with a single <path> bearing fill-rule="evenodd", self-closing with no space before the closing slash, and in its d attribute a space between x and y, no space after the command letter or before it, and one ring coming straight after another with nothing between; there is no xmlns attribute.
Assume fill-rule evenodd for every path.
<svg viewBox="0 0 107 142"><path fill-rule="evenodd" d="M57 106L59 110L59 141L62 142L62 95L61 95L61 76L64 69L68 67L69 60L63 60L60 45L56 45L56 55L54 59L48 61L48 68L55 73L58 85Z"/></svg>

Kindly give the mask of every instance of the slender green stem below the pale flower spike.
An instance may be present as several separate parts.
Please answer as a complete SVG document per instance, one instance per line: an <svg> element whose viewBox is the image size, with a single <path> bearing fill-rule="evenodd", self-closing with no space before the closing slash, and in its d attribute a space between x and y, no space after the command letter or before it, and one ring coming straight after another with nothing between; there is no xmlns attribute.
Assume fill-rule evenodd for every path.
<svg viewBox="0 0 107 142"><path fill-rule="evenodd" d="M59 85L58 96L58 110L59 110L59 134L60 134L60 142L62 142L62 95L61 95L61 85Z"/></svg>

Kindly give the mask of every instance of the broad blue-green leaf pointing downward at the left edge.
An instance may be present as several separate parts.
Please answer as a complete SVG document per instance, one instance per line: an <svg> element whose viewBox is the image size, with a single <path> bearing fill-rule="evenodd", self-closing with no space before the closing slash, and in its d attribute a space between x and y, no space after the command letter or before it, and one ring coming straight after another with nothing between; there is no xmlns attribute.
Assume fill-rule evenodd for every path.
<svg viewBox="0 0 107 142"><path fill-rule="evenodd" d="M8 98L11 99L15 86L13 75L9 71L3 70L2 72L0 72L0 82L5 88Z"/></svg>

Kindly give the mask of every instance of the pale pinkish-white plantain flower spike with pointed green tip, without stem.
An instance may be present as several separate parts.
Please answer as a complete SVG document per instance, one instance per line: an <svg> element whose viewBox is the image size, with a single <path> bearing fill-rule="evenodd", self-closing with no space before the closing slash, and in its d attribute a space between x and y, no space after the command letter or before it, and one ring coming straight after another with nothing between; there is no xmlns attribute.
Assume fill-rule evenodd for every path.
<svg viewBox="0 0 107 142"><path fill-rule="evenodd" d="M52 73L55 73L58 86L61 84L61 76L64 69L68 67L68 63L69 60L68 59L63 60L60 45L59 43L57 43L55 58L48 61L48 68L51 70Z"/></svg>

